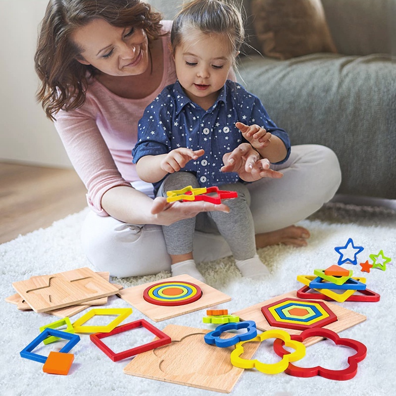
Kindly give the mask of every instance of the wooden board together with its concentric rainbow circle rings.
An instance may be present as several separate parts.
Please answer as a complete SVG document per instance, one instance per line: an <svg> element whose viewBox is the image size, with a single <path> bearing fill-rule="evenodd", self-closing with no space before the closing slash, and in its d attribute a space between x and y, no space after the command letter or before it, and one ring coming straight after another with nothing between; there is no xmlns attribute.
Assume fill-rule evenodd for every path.
<svg viewBox="0 0 396 396"><path fill-rule="evenodd" d="M185 286L182 286L183 284ZM175 285L179 286L176 287ZM189 288L191 289L190 292ZM231 300L230 296L189 275L178 275L163 279L161 282L156 281L134 286L121 290L118 295L154 322L160 322ZM147 296L155 297L153 298L155 302L152 302L150 298L147 300L145 295L146 298ZM172 301L173 297L176 297L176 300L179 299L178 305L174 303L165 305L166 302ZM162 304L158 304L158 302L162 302ZM183 304L179 305L180 302L183 302Z"/></svg>

